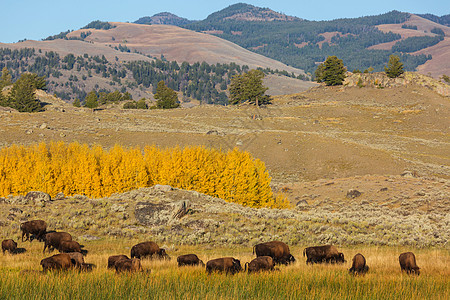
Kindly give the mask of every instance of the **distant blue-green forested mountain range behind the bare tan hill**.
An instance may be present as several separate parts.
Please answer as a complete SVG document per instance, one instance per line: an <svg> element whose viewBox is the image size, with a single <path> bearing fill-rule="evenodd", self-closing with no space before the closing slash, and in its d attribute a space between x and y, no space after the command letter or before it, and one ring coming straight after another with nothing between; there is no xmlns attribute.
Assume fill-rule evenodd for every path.
<svg viewBox="0 0 450 300"><path fill-rule="evenodd" d="M270 10L240 3L183 27L216 35L310 73L314 73L317 64L331 55L343 59L348 70L372 67L375 71L383 71L391 54L399 55L409 71L429 70L419 66L433 60L435 65L442 64L445 59L450 61L450 53L445 51L448 35L431 31L444 28L445 33L445 26L426 20L427 34L419 31L411 34L411 29L402 27L408 24L415 26L418 21L409 13L391 11L352 19L308 21L295 17L263 18L263 12L268 14ZM395 25L400 29L395 32L380 29L385 25ZM414 36L428 37L408 39ZM438 53L433 59L433 54ZM433 69L431 75L449 74L450 69L446 65L443 63L442 67Z"/></svg>

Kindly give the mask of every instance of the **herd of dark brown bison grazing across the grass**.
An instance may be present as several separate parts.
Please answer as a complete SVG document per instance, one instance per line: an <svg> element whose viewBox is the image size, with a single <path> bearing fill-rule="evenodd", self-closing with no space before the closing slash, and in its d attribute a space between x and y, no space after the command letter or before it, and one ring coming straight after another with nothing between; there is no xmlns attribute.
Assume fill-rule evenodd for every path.
<svg viewBox="0 0 450 300"><path fill-rule="evenodd" d="M44 242L44 250L48 252L57 249L60 253L41 260L43 271L48 270L67 270L76 268L79 270L90 271L93 264L84 262L84 256L87 254L83 246L72 240L72 236L67 232L48 232L47 224L43 220L27 221L20 225L22 231L22 241L33 239ZM2 241L2 251L5 254L24 252L25 249L17 248L17 243L12 239ZM295 262L294 256L290 253L288 245L280 241L271 241L257 244L253 247L253 254L256 258L245 263L245 269L242 268L240 260L234 257L221 257L208 261L206 263L206 272L224 272L226 274L235 274L243 270L248 273L260 271L273 271L275 265L288 265ZM344 254L339 252L333 245L308 247L303 250L303 256L306 256L307 264L318 263L345 263ZM120 272L142 271L141 259L157 258L167 259L170 257L165 249L160 248L155 242L147 241L134 245L130 251L130 257L120 254L112 255L108 258L108 269L114 269ZM195 254L186 254L177 257L179 267L183 266L202 266L205 264ZM399 256L399 263L402 271L407 274L419 275L419 267L416 264L416 258L412 252L402 253ZM349 273L353 275L362 275L367 273L369 266L366 264L365 257L358 253L353 257L352 266Z"/></svg>

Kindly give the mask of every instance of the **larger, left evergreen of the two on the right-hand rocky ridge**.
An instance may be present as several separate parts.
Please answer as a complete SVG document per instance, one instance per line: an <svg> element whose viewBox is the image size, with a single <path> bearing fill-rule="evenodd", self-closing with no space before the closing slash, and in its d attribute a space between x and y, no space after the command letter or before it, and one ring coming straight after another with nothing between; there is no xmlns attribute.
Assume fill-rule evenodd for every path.
<svg viewBox="0 0 450 300"><path fill-rule="evenodd" d="M345 79L345 72L342 59L336 56L328 56L324 63L320 64L316 69L316 81L325 82L326 85L341 85Z"/></svg>

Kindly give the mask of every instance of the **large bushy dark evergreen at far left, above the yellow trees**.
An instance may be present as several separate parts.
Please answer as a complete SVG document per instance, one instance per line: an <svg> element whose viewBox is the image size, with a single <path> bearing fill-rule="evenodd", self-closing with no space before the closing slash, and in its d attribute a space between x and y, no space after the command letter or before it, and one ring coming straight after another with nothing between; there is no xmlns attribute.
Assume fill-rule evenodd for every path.
<svg viewBox="0 0 450 300"><path fill-rule="evenodd" d="M9 105L20 112L42 111L42 103L36 98L35 74L25 73L14 83L9 94Z"/></svg>

